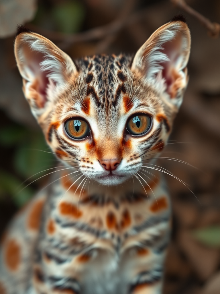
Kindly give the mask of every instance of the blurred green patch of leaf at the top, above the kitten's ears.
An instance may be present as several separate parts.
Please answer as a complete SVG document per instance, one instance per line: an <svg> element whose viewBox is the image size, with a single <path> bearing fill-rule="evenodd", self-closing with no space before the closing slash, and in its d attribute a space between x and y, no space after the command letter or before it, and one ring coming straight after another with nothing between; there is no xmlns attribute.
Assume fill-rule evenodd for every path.
<svg viewBox="0 0 220 294"><path fill-rule="evenodd" d="M52 16L58 30L63 33L75 33L79 31L84 20L84 7L78 1L69 1L54 6Z"/></svg>

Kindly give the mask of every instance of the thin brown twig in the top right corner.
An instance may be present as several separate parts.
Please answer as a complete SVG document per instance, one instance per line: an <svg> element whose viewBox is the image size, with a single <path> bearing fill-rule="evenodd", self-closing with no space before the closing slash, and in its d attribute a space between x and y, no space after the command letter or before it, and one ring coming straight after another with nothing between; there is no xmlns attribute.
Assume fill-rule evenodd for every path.
<svg viewBox="0 0 220 294"><path fill-rule="evenodd" d="M213 38L217 38L220 34L220 24L216 22L211 22L205 16L200 14L198 11L194 10L188 4L186 4L185 0L170 0L173 4L180 7L190 15L194 16L201 24L204 26L209 33L209 36Z"/></svg>

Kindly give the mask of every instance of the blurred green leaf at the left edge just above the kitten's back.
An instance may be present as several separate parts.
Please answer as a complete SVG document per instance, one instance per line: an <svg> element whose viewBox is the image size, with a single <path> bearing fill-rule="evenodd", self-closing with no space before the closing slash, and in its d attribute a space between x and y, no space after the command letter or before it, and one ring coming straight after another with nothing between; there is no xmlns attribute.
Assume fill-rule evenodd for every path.
<svg viewBox="0 0 220 294"><path fill-rule="evenodd" d="M25 185L15 176L6 171L0 171L0 196L10 195L14 203L21 207L32 198L34 191ZM22 190L22 191L21 191ZM21 191L19 193L19 191Z"/></svg>

